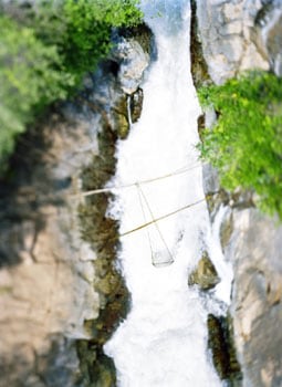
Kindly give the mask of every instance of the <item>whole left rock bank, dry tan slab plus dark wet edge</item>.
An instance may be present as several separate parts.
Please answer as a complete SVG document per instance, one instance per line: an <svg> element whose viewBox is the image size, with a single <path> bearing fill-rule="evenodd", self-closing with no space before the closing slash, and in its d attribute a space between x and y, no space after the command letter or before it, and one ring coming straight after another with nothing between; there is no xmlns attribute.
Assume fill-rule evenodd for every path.
<svg viewBox="0 0 282 387"><path fill-rule="evenodd" d="M115 385L103 344L128 301L113 263L117 224L105 216L108 195L83 192L108 181L128 113L140 114L149 55L134 33L121 36L123 54L88 75L72 103L19 139L0 182L1 387ZM145 27L140 35L150 44Z"/></svg>

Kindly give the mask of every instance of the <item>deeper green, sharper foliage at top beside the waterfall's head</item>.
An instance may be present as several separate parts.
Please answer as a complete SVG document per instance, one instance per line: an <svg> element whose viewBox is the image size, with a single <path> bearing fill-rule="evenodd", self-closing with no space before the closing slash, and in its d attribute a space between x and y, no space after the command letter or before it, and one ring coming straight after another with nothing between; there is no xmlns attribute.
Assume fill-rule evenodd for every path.
<svg viewBox="0 0 282 387"><path fill-rule="evenodd" d="M135 25L142 13L136 0L41 1L29 11L29 22L45 44L55 44L64 69L81 82L111 49L113 27Z"/></svg>

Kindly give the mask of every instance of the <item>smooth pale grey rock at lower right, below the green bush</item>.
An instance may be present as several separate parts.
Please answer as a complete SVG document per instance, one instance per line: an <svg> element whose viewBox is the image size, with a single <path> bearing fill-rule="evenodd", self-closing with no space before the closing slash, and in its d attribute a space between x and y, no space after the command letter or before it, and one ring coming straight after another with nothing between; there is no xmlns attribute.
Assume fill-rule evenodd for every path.
<svg viewBox="0 0 282 387"><path fill-rule="evenodd" d="M233 212L231 313L244 387L282 384L282 227L255 209Z"/></svg>

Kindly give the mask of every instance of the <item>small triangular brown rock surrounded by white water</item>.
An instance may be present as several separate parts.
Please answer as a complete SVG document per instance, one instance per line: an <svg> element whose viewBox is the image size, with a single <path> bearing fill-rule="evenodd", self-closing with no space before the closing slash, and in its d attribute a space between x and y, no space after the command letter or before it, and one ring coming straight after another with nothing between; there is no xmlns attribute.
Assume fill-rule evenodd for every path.
<svg viewBox="0 0 282 387"><path fill-rule="evenodd" d="M205 251L197 268L190 273L189 285L199 285L203 291L215 287L220 282L216 268Z"/></svg>

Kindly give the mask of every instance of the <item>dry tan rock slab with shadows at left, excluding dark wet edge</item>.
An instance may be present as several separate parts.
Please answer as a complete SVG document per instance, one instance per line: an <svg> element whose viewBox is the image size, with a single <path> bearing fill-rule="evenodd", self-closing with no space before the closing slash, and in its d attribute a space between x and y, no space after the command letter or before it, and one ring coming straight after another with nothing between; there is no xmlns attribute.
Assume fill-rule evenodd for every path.
<svg viewBox="0 0 282 387"><path fill-rule="evenodd" d="M97 151L86 116L50 113L20 139L1 181L1 387L75 386L75 341L90 337L84 320L97 316L98 295L73 194Z"/></svg>

